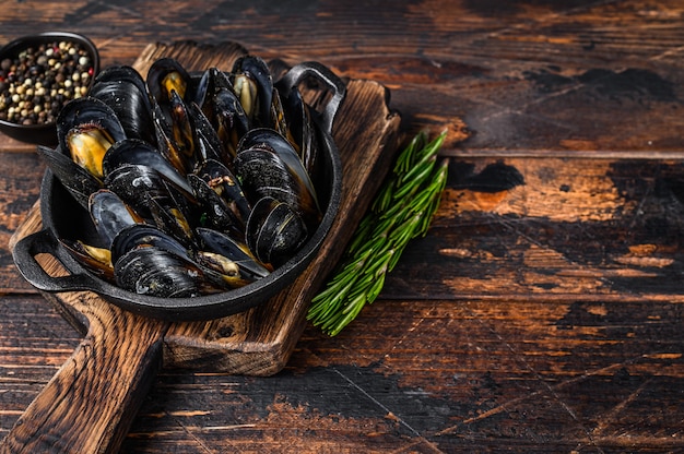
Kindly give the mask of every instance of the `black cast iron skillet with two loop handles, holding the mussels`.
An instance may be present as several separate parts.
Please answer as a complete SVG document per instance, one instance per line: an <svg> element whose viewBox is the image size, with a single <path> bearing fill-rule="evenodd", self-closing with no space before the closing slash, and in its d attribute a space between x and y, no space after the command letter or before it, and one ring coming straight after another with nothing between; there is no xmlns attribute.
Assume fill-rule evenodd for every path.
<svg viewBox="0 0 684 454"><path fill-rule="evenodd" d="M331 136L332 123L345 86L328 68L317 62L293 67L284 76L288 86L299 85L312 77L322 82L331 92L328 104L320 115L315 116L321 139L325 175L317 178L316 188L323 218L318 229L295 256L263 277L245 287L216 295L194 298L160 298L138 295L111 285L85 270L57 241L57 238L94 239L96 237L87 213L73 200L59 180L45 172L40 187L40 215L44 229L19 241L13 250L14 262L22 275L39 290L59 292L91 290L105 300L145 316L190 321L226 316L258 306L290 285L310 263L326 238L338 213L342 190L342 165L338 148ZM70 275L54 277L38 264L39 253L54 255L70 272Z"/></svg>

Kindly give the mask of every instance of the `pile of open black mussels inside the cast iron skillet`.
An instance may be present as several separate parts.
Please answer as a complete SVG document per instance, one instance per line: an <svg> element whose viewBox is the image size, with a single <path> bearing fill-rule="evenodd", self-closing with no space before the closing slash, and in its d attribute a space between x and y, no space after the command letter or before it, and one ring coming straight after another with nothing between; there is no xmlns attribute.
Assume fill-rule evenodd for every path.
<svg viewBox="0 0 684 454"><path fill-rule="evenodd" d="M144 79L104 70L60 112L58 146L38 148L101 240L59 241L138 294L209 295L267 276L322 217L311 115L256 56L231 72L190 74L168 58Z"/></svg>

